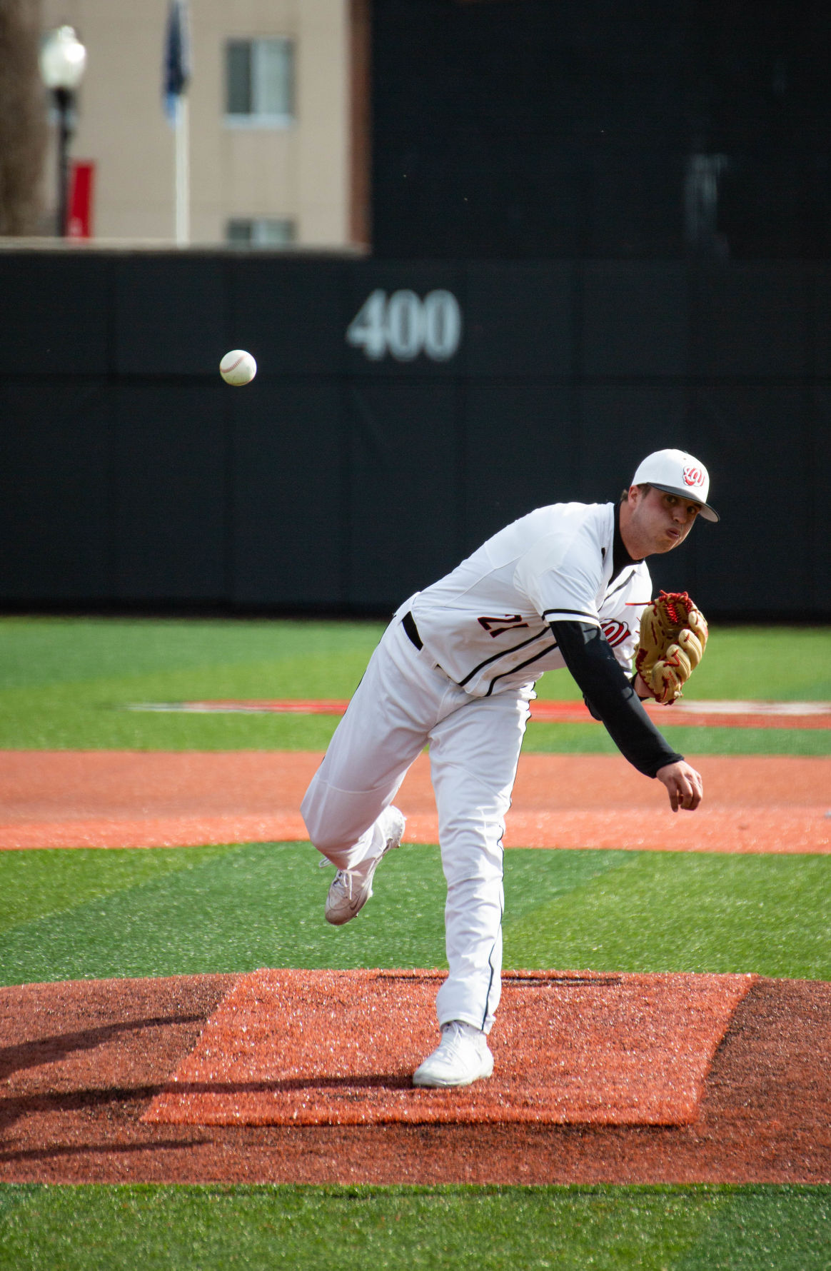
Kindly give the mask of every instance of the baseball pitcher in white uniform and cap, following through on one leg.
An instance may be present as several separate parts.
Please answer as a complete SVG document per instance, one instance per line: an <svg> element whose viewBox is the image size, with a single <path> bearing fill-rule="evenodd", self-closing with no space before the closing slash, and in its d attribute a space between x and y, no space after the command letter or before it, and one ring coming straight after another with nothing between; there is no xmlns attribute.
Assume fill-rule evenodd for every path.
<svg viewBox="0 0 831 1271"><path fill-rule="evenodd" d="M348 923L402 840L393 799L429 745L450 970L436 999L441 1042L416 1085L468 1085L493 1071L504 815L544 671L568 667L620 752L666 787L673 812L701 801L699 773L642 699L675 700L704 653L704 616L686 594L653 601L645 559L680 547L698 517L718 521L708 496L698 459L654 451L616 505L554 503L494 534L410 596L372 655L301 810L337 868L325 916Z"/></svg>

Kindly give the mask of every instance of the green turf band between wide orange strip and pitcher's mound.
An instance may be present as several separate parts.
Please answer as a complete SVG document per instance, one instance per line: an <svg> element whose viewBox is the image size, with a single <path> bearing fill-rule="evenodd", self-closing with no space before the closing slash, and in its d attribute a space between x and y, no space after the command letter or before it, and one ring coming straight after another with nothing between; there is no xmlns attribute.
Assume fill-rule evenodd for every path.
<svg viewBox="0 0 831 1271"><path fill-rule="evenodd" d="M0 891L20 855L0 853ZM5 984L446 965L437 848L391 854L371 904L343 928L323 920L332 873L309 844L27 855L60 857L71 896L98 890L0 935ZM48 862L32 872L33 891L37 878L53 906ZM504 965L831 979L830 881L828 857L512 849Z"/></svg>

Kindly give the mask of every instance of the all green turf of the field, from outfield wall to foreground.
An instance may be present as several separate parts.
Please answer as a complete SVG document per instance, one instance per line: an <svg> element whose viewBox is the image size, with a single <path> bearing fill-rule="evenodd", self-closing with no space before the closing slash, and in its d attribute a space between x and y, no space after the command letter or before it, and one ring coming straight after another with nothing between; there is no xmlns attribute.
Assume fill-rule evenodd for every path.
<svg viewBox="0 0 831 1271"><path fill-rule="evenodd" d="M0 749L323 749L337 721L138 714L137 702L346 698L377 623L0 620ZM825 628L715 629L690 698L831 699ZM567 672L540 697L574 698ZM689 754L828 754L820 730L667 730ZM531 724L526 749L611 749ZM831 807L831 799L830 799ZM0 982L442 966L436 848L384 866L356 923L321 920L306 844L0 853ZM506 966L831 979L831 862L513 850ZM0 1268L557 1267L827 1271L828 1187L0 1186Z"/></svg>

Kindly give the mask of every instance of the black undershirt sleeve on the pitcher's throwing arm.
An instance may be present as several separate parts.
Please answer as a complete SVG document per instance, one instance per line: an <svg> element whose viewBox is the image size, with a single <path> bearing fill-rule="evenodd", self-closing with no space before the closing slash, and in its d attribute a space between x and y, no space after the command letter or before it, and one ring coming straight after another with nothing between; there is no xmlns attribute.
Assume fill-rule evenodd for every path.
<svg viewBox="0 0 831 1271"><path fill-rule="evenodd" d="M590 710L639 773L654 777L659 768L684 759L649 719L598 627L581 622L549 625Z"/></svg>

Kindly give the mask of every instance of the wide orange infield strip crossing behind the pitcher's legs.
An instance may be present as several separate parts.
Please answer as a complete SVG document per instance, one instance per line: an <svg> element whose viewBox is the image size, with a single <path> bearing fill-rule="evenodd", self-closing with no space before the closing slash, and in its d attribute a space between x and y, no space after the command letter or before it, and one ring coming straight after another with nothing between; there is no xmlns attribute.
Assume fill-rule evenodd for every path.
<svg viewBox="0 0 831 1271"><path fill-rule="evenodd" d="M128 848L306 839L302 751L0 751L0 848ZM506 845L831 852L831 758L694 760L705 799L670 811L658 782L612 755L522 755ZM429 765L402 787L405 840L436 843Z"/></svg>

